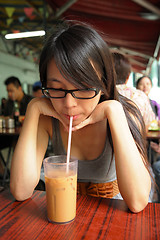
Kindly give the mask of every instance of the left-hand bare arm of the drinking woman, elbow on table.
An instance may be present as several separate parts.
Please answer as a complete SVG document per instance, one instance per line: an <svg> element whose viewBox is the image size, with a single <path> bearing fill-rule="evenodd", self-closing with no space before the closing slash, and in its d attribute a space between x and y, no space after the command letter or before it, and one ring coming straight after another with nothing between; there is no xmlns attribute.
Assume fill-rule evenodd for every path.
<svg viewBox="0 0 160 240"><path fill-rule="evenodd" d="M23 127L11 163L10 189L17 200L29 198L36 187L54 115L48 99L33 99L27 107Z"/></svg>

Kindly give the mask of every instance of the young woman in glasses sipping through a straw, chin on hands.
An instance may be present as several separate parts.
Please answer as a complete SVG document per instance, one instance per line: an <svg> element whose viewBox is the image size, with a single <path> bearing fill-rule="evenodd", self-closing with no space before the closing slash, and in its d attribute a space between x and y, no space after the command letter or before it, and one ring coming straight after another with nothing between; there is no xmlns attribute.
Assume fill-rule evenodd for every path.
<svg viewBox="0 0 160 240"><path fill-rule="evenodd" d="M33 99L11 166L11 192L29 198L36 187L49 137L55 154L67 150L73 116L71 156L79 160L78 189L100 197L121 196L133 212L148 203L145 128L134 103L118 95L106 42L90 26L66 23L46 42L40 57L46 98Z"/></svg>

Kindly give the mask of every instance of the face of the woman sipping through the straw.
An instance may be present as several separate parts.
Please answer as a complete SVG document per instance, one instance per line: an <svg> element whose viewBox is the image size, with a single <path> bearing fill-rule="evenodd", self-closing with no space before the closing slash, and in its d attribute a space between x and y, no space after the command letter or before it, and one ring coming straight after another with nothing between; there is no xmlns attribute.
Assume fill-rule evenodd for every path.
<svg viewBox="0 0 160 240"><path fill-rule="evenodd" d="M48 64L47 87L76 90L59 72L54 60ZM94 87L94 86L93 86ZM70 93L64 98L50 98L51 103L63 121L69 125L70 116L73 116L73 126L85 120L96 108L101 96L101 91L92 99L76 99Z"/></svg>

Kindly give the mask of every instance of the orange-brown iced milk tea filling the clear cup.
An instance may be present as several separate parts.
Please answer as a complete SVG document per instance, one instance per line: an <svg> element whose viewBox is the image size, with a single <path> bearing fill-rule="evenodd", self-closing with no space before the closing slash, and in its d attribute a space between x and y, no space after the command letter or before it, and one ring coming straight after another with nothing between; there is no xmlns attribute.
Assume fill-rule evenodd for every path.
<svg viewBox="0 0 160 240"><path fill-rule="evenodd" d="M67 223L76 216L77 173L54 172L45 176L48 219Z"/></svg>

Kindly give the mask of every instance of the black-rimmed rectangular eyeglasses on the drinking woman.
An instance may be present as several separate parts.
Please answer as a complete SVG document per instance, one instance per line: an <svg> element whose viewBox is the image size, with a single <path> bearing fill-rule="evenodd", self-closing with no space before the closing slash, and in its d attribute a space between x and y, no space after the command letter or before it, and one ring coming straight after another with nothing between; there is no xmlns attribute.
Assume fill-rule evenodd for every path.
<svg viewBox="0 0 160 240"><path fill-rule="evenodd" d="M99 90L96 88L64 90L61 88L42 87L42 92L47 98L64 98L68 93L70 93L72 97L77 99L91 99L99 93Z"/></svg>

